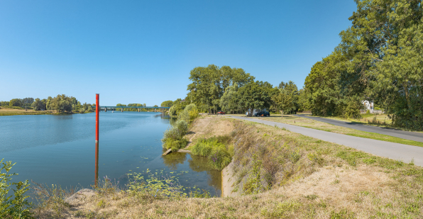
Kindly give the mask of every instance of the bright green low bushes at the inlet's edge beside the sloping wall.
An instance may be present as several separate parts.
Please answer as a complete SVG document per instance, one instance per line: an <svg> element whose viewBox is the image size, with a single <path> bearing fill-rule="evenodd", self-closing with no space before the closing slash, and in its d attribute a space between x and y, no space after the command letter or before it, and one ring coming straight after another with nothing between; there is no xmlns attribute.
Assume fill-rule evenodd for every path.
<svg viewBox="0 0 423 219"><path fill-rule="evenodd" d="M201 139L190 147L191 153L208 157L210 167L220 171L232 161L234 155L234 146L228 144L229 140L227 135Z"/></svg>

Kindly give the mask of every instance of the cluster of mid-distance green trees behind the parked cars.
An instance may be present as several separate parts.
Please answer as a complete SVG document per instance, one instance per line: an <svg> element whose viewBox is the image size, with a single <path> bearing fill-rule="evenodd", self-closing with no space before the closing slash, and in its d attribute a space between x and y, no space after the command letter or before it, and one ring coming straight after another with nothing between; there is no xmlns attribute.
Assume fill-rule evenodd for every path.
<svg viewBox="0 0 423 219"><path fill-rule="evenodd" d="M190 72L192 81L185 99L164 101L160 106L170 107L170 114L177 115L190 103L198 111L216 113L245 113L253 109L268 109L280 113L297 113L308 109L304 90L298 91L294 82L281 82L274 87L268 82L255 81L255 77L241 68L229 66L195 67Z"/></svg>

